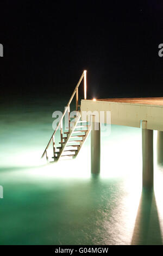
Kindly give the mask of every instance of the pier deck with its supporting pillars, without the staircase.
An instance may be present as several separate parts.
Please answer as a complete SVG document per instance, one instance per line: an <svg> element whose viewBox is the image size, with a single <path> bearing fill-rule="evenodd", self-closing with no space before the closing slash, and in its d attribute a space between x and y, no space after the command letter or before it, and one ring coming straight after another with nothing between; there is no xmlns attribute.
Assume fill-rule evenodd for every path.
<svg viewBox="0 0 163 256"><path fill-rule="evenodd" d="M83 111L99 114L101 111L110 111L111 124L142 129L142 149L140 150L142 150L143 187L153 187L153 130L158 131L158 161L163 160L163 97L82 100L81 112ZM99 141L99 132L93 132L91 150L95 147L93 141ZM97 151L99 152L99 149ZM93 162L100 161L100 154L91 154L91 157L92 171L96 172Z"/></svg>

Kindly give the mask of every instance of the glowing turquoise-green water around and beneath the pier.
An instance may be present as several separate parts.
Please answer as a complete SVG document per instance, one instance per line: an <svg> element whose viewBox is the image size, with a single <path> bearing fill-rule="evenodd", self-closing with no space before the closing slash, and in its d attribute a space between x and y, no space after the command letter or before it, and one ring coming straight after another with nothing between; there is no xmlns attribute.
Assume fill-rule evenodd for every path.
<svg viewBox="0 0 163 256"><path fill-rule="evenodd" d="M155 160L154 193L142 191L141 129L102 131L100 175L90 173L90 138L75 160L40 160L52 113L66 103L55 96L1 103L0 244L162 244L163 170Z"/></svg>

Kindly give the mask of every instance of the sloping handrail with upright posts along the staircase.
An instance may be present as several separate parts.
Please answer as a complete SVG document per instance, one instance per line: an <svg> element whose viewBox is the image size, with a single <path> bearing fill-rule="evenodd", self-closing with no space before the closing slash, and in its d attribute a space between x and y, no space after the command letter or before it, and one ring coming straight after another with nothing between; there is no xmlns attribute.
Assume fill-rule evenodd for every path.
<svg viewBox="0 0 163 256"><path fill-rule="evenodd" d="M65 107L65 111L64 111L64 113L62 114L62 117L61 117L61 119L59 120L58 125L57 125L55 131L53 132L53 135L52 135L52 137L50 138L50 140L49 140L49 142L48 142L48 144L47 144L47 147L46 147L46 149L44 150L44 152L43 152L41 158L42 158L43 156L45 156L45 154L46 154L46 158L48 159L48 156L47 156L47 149L48 149L49 145L51 144L51 141L53 141L53 151L54 151L54 154L55 154L54 135L55 135L55 133L58 131L59 126L61 126L61 122L62 122L62 120L63 120L63 118L64 118L64 116L65 116L65 114L66 114L67 111L68 111L69 120L70 120L70 104L71 104L71 101L73 100L73 97L74 97L75 94L76 94L76 111L78 111L78 87L80 86L80 83L82 82L83 77L84 77L84 100L86 100L86 70L84 70L82 76L80 76L79 82L77 83L77 86L76 86L76 88L74 89L73 94L72 94L70 100L68 101L67 106ZM70 122L69 122L69 129L70 129ZM62 139L62 131L61 131L61 139Z"/></svg>

